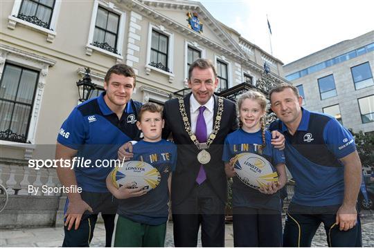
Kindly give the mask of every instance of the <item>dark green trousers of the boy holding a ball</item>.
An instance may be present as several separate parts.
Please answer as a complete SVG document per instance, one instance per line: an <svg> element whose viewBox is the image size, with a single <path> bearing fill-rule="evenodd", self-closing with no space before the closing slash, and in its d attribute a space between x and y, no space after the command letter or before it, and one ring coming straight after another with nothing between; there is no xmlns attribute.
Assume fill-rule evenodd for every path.
<svg viewBox="0 0 374 248"><path fill-rule="evenodd" d="M116 216L114 226L114 247L163 247L166 223L152 226Z"/></svg>

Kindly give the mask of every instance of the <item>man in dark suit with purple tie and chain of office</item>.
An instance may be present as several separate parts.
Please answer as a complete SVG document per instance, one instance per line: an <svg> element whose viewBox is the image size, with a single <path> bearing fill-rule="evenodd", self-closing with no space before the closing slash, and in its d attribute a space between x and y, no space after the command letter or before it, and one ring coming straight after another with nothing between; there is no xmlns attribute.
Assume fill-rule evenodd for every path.
<svg viewBox="0 0 374 248"><path fill-rule="evenodd" d="M165 104L163 137L172 133L178 162L172 175L172 219L176 247L196 247L202 225L204 247L224 247L224 207L227 195L222 145L238 128L235 104L213 95L218 79L207 59L197 59L188 71L192 93Z"/></svg>

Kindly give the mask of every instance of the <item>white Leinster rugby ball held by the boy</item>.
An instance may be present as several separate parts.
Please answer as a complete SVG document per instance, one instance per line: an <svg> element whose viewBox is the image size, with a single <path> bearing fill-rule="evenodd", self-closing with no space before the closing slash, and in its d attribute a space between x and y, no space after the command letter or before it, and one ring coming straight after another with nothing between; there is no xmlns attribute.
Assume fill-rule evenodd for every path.
<svg viewBox="0 0 374 248"><path fill-rule="evenodd" d="M132 189L143 187L150 191L159 185L161 175L152 165L142 161L127 161L112 171L112 182L118 189L130 183Z"/></svg>

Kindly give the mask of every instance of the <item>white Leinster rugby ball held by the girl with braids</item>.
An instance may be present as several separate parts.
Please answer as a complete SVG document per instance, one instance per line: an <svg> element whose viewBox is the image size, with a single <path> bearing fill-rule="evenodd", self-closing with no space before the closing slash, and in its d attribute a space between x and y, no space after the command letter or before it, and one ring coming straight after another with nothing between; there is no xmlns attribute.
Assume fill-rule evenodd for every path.
<svg viewBox="0 0 374 248"><path fill-rule="evenodd" d="M238 178L253 189L267 187L269 182L278 182L278 173L271 163L255 153L236 155L234 169Z"/></svg>

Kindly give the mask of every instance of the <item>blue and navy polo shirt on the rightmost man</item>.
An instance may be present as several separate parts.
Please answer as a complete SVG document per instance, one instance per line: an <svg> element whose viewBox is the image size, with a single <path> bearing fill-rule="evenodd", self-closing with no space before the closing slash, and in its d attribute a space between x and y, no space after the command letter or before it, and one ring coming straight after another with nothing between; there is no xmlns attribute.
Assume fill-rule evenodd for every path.
<svg viewBox="0 0 374 248"><path fill-rule="evenodd" d="M353 136L330 115L305 108L302 113L294 135L281 120L269 127L285 135L286 165L296 183L292 202L311 207L341 204L344 166L339 159L356 151Z"/></svg>

